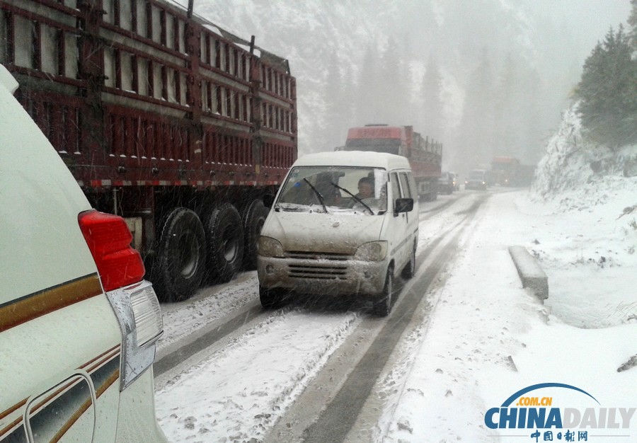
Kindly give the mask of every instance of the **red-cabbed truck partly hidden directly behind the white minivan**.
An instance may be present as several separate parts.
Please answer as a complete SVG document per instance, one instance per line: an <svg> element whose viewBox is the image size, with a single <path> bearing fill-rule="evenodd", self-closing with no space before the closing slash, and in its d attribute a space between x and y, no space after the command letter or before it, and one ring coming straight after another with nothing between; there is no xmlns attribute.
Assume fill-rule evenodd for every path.
<svg viewBox="0 0 637 443"><path fill-rule="evenodd" d="M336 150L376 151L406 157L418 186L418 196L435 200L442 165L442 143L422 137L411 126L365 125L348 131L345 146Z"/></svg>

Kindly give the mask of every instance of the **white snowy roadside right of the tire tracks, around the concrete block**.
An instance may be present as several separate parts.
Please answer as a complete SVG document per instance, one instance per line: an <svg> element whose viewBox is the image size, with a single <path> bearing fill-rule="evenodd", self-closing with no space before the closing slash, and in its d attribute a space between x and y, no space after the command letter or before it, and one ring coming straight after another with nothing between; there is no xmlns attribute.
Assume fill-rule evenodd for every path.
<svg viewBox="0 0 637 443"><path fill-rule="evenodd" d="M488 409L535 384L577 386L599 401L589 404L564 389L529 393L553 396L557 408L637 407L637 367L617 371L637 355L636 217L619 217L637 203L637 180L608 178L598 185L603 202L589 202L585 190L548 203L533 202L526 191L490 198L483 209L490 215L448 271L396 409L386 411L385 442L535 442L536 429L485 424ZM507 253L514 244L539 257L549 276L544 306L521 288ZM569 431L636 441L637 417L630 430L609 430L604 414ZM622 423L619 412L614 420ZM556 439L559 431L551 430Z"/></svg>

